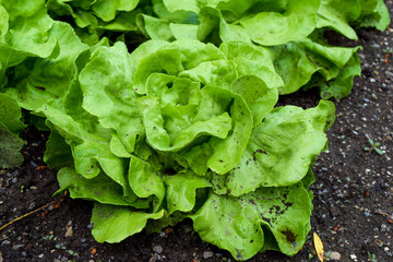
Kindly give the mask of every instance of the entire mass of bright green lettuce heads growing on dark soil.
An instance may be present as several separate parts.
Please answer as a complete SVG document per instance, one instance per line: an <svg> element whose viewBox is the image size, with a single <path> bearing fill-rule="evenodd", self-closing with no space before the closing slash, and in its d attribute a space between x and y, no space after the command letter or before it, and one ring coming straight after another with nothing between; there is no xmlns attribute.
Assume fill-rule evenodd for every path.
<svg viewBox="0 0 393 262"><path fill-rule="evenodd" d="M0 0L0 167L23 162L23 108L97 241L191 218L237 260L293 255L335 108L278 94L348 95L359 47L323 33L388 24L382 0Z"/></svg>

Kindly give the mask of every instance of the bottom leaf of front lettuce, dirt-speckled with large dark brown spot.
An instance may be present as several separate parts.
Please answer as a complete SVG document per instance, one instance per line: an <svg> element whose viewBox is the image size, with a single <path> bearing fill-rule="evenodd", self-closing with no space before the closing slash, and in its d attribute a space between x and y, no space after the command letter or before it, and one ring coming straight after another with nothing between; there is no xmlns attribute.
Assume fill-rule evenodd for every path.
<svg viewBox="0 0 393 262"><path fill-rule="evenodd" d="M297 183L260 188L239 198L211 192L189 217L203 240L227 249L236 260L247 260L263 248L270 233L283 253L297 253L306 241L311 207L308 192Z"/></svg>

